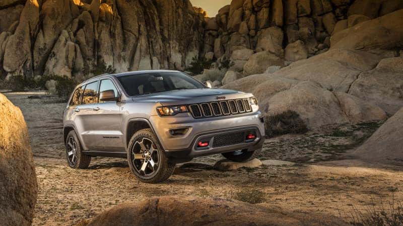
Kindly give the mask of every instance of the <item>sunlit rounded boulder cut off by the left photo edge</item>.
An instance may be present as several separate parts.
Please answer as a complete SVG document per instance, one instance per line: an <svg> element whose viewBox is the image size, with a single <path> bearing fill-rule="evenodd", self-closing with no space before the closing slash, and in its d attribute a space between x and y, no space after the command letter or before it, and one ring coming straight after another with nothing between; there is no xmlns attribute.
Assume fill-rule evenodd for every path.
<svg viewBox="0 0 403 226"><path fill-rule="evenodd" d="M0 93L0 222L31 225L38 184L20 108Z"/></svg>

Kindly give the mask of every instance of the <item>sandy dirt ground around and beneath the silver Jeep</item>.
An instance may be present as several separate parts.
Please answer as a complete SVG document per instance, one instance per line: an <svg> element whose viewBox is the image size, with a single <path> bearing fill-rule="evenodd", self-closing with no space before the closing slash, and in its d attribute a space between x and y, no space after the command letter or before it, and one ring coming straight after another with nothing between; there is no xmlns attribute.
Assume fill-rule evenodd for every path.
<svg viewBox="0 0 403 226"><path fill-rule="evenodd" d="M116 204L160 195L221 197L292 212L344 217L403 201L403 167L369 164L349 152L383 122L338 125L266 139L260 160L290 166L220 172L220 155L177 165L161 184L144 184L124 159L93 158L87 170L66 165L62 141L65 103L41 92L5 93L24 114L36 163L39 194L33 225L72 225ZM40 98L28 98L37 95ZM36 97L37 97L36 96ZM397 189L397 191L396 191Z"/></svg>

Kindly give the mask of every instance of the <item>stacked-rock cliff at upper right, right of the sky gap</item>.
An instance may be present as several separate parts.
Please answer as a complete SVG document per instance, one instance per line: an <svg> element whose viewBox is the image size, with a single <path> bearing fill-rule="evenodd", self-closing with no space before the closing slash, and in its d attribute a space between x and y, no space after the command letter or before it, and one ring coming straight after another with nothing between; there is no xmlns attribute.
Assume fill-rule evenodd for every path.
<svg viewBox="0 0 403 226"><path fill-rule="evenodd" d="M402 8L401 0L233 0L216 17L206 19L204 54L214 56L219 64L229 58L231 70L250 75L323 53L330 44L332 48L394 50L402 41L400 34L387 32L388 25L368 27L366 36L357 39L346 38L352 33L347 28ZM383 36L384 42L368 46L369 34Z"/></svg>

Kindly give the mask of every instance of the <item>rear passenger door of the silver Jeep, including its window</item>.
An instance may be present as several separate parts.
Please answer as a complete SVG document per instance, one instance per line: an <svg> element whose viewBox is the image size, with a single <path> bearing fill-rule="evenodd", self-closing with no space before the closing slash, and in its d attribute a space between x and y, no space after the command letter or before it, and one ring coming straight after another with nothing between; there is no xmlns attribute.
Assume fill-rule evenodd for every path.
<svg viewBox="0 0 403 226"><path fill-rule="evenodd" d="M98 101L98 81L88 83L83 92L81 105L77 107L76 127L85 150L95 150L97 121L93 117L94 104Z"/></svg>

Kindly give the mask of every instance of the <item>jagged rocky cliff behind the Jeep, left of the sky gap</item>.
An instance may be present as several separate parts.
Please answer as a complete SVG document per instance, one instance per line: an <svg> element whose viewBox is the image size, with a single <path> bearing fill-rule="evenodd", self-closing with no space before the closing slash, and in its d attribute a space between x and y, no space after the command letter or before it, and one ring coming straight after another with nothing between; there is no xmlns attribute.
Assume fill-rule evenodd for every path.
<svg viewBox="0 0 403 226"><path fill-rule="evenodd" d="M188 0L2 0L0 16L2 78L182 69L204 41Z"/></svg>

